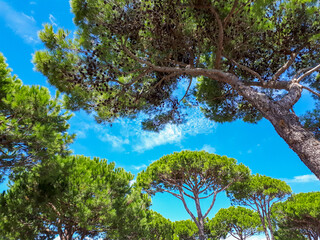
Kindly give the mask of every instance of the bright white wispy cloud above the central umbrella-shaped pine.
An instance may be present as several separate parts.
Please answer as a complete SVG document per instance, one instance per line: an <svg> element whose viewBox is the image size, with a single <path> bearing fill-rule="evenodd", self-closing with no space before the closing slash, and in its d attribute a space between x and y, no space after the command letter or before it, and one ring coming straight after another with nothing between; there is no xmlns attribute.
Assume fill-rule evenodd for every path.
<svg viewBox="0 0 320 240"><path fill-rule="evenodd" d="M179 144L185 137L211 133L216 124L206 119L199 110L187 118L182 125L166 125L160 132L141 131L137 143L133 146L136 152L144 152L165 144Z"/></svg>

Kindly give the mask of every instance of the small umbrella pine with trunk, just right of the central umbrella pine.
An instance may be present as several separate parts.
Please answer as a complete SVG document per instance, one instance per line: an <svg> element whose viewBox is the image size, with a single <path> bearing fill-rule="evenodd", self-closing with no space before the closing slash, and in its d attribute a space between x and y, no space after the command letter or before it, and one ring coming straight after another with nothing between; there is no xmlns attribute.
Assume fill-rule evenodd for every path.
<svg viewBox="0 0 320 240"><path fill-rule="evenodd" d="M274 203L284 200L290 194L291 188L284 181L259 174L228 189L233 204L248 206L259 214L267 240L274 240L271 217Z"/></svg>

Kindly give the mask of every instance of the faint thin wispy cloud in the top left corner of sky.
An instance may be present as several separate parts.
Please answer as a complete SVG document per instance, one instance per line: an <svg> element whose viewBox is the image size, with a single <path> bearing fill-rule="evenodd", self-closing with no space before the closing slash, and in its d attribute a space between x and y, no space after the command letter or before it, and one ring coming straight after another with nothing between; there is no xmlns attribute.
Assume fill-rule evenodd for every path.
<svg viewBox="0 0 320 240"><path fill-rule="evenodd" d="M0 0L0 17L6 22L6 25L18 36L24 39L26 43L38 43L37 23L32 16L23 12L18 12L9 4Z"/></svg>

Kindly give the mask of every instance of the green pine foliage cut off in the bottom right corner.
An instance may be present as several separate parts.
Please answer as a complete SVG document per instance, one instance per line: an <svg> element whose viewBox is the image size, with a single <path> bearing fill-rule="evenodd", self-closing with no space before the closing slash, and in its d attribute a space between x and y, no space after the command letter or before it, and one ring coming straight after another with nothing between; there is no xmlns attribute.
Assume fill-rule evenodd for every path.
<svg viewBox="0 0 320 240"><path fill-rule="evenodd" d="M319 239L320 192L299 193L285 202L275 204L273 216L280 234L296 234L301 239Z"/></svg>

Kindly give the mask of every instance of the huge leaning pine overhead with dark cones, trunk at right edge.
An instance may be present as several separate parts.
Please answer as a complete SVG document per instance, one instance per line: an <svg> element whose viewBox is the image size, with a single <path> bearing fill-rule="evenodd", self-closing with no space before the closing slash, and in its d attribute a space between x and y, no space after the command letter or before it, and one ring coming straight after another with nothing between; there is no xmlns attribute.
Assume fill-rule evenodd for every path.
<svg viewBox="0 0 320 240"><path fill-rule="evenodd" d="M77 34L46 25L34 62L98 122L142 112L159 130L198 103L218 122L265 118L320 178L317 2L72 0ZM302 91L317 103L299 118Z"/></svg>

